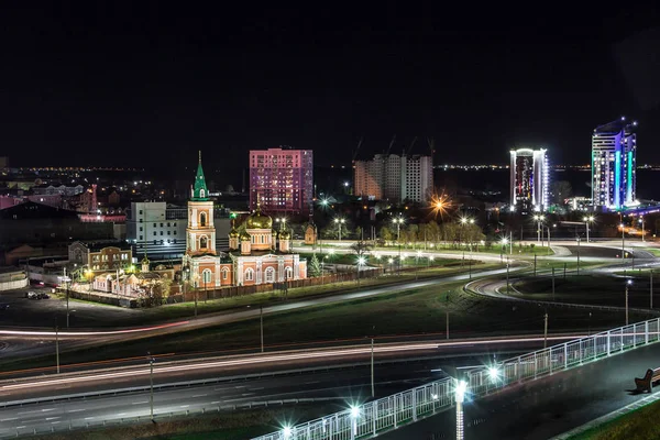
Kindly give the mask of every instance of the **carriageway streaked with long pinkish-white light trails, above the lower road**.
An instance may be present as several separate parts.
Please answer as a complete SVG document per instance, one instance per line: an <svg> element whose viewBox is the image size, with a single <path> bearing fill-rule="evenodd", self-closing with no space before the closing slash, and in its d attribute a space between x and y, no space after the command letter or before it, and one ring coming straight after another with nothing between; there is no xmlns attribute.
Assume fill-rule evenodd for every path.
<svg viewBox="0 0 660 440"><path fill-rule="evenodd" d="M566 341L583 334L550 334L551 341ZM464 340L407 341L376 343L376 363L405 361L419 358L457 359L493 354L502 356L509 352L527 352L542 346L543 337L475 338ZM295 369L329 369L332 366L369 363L371 344L293 350L274 353L208 358L186 361L157 359L154 364L156 385L184 381L201 381L246 374L273 374ZM119 388L147 386L150 369L146 358L139 365L82 370L72 373L48 374L22 377L4 373L0 381L0 405L28 399L43 398L58 394L77 394ZM33 374L37 374L34 372ZM24 375L24 373L23 373Z"/></svg>

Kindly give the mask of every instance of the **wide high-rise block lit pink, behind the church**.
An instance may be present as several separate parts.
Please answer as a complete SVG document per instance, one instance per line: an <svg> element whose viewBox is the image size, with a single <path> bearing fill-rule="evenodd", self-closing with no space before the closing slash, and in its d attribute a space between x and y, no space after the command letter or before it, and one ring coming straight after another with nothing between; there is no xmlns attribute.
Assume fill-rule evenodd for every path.
<svg viewBox="0 0 660 440"><path fill-rule="evenodd" d="M311 150L250 151L250 209L302 212L314 198Z"/></svg>

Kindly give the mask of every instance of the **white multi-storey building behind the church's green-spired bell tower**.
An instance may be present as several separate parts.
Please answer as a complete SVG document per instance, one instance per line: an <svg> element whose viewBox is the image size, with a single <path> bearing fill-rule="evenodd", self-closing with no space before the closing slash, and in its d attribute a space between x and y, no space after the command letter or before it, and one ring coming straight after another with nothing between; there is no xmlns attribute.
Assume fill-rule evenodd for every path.
<svg viewBox="0 0 660 440"><path fill-rule="evenodd" d="M133 245L133 255L180 258L186 252L188 209L164 201L132 202L127 215L127 240ZM216 209L213 223L220 231L216 246L229 246L227 234L231 229L229 211Z"/></svg>

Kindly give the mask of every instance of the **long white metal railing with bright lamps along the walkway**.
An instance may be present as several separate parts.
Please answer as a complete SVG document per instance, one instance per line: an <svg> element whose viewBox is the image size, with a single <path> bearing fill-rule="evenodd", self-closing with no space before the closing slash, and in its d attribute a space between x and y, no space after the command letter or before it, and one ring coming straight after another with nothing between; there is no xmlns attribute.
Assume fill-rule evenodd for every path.
<svg viewBox="0 0 660 440"><path fill-rule="evenodd" d="M538 350L499 362L497 365L484 365L466 374L466 393L471 399L476 399L513 384L534 381L644 346L658 341L659 329L660 318L656 318ZM451 408L454 405L454 378L446 377L317 420L283 427L277 432L253 440L372 438Z"/></svg>

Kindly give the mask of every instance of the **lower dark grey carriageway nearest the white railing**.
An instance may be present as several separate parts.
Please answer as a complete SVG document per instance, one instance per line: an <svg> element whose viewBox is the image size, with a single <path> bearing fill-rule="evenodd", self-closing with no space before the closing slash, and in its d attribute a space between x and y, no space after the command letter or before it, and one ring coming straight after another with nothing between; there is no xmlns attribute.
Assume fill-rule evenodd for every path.
<svg viewBox="0 0 660 440"><path fill-rule="evenodd" d="M517 351L509 352L509 354ZM501 352L504 355L505 352ZM492 356L492 354L490 354ZM375 367L376 397L394 394L422 383L442 377L438 366L452 362L453 365L473 365L480 354L466 353L452 361L427 359L406 363L378 364ZM188 377L186 377L187 380ZM114 381L113 381L114 383ZM124 384L116 384L123 386ZM68 389L67 389L68 391ZM62 392L62 391L61 391ZM286 376L268 376L250 380L226 381L215 384L170 388L154 393L156 417L169 413L217 410L218 407L240 406L282 399L320 398L332 399L337 409L351 403L363 402L371 395L369 365L333 371L304 372ZM231 409L231 408L229 408ZM59 402L45 402L24 406L0 408L0 438L19 433L48 431L56 425L72 424L84 427L87 422L119 420L150 415L150 394L139 392L117 396L91 397Z"/></svg>

